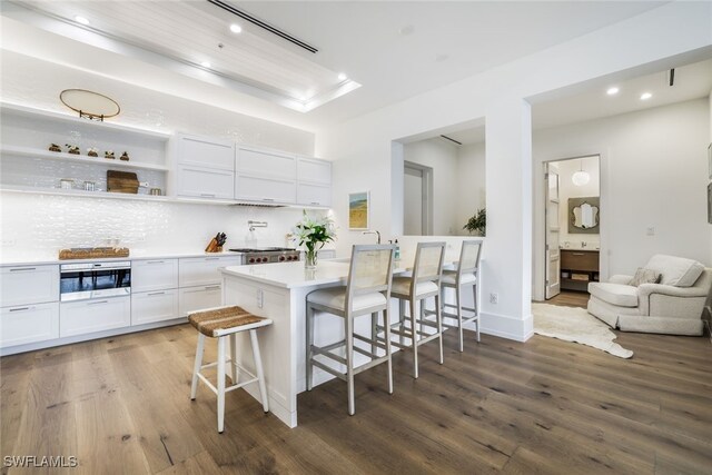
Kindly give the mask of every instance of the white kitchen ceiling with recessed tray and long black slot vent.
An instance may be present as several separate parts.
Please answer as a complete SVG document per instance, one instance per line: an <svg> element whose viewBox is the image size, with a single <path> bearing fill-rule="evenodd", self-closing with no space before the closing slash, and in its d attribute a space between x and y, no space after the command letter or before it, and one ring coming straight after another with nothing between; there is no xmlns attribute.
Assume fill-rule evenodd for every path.
<svg viewBox="0 0 712 475"><path fill-rule="evenodd" d="M245 22L240 23L243 32L233 34L227 30L233 16L206 0L16 1L14 9L2 3L2 14L23 23L28 34L32 29L50 32L42 41L42 34L30 34L32 40L27 40L26 34L27 44L16 41L12 46L18 52L40 57L41 49L55 42L52 36L59 34L72 40L55 53L62 56L65 63L79 65L89 55L98 58L100 55L89 49L103 49L111 53L105 53L107 60L123 65L135 83L149 82L161 75L170 78L164 80L169 93L182 96L190 91L196 98L215 97L218 87L226 98L245 98L224 100L218 107L247 113L240 105L261 102L271 120L314 130L443 87L664 2L228 1L316 47L317 53ZM47 14L38 14L37 10L30 14L26 7ZM75 14L86 16L91 29L78 26ZM210 67L200 66L204 57L209 57ZM92 65L77 67L99 72L101 63ZM339 89L339 72L349 78L345 89ZM122 80L120 76L117 79ZM313 96L318 100L308 103ZM289 99L285 101L285 97ZM298 103L291 107L295 99L301 101L299 112L295 112ZM279 107L270 106L275 103Z"/></svg>

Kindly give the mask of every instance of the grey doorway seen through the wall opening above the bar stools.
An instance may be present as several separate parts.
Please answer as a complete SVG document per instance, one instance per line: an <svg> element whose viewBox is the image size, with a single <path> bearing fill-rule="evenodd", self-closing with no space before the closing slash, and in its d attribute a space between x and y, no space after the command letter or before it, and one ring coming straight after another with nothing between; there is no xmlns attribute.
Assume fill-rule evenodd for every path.
<svg viewBox="0 0 712 475"><path fill-rule="evenodd" d="M403 231L406 236L433 235L433 168L404 161Z"/></svg>

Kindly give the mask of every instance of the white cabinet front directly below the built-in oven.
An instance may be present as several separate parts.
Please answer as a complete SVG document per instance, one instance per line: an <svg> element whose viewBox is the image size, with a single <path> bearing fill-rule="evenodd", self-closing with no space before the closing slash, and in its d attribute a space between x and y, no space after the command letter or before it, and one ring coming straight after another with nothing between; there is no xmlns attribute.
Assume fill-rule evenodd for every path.
<svg viewBox="0 0 712 475"><path fill-rule="evenodd" d="M130 297L68 301L59 306L59 336L62 338L130 325Z"/></svg>

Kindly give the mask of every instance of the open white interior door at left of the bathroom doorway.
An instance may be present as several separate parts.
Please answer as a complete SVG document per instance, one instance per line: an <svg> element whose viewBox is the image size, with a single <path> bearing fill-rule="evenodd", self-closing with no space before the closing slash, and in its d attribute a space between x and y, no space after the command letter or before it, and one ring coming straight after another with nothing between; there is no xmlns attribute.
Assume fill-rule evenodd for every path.
<svg viewBox="0 0 712 475"><path fill-rule="evenodd" d="M558 222L558 168L546 164L546 299L561 293L561 253Z"/></svg>

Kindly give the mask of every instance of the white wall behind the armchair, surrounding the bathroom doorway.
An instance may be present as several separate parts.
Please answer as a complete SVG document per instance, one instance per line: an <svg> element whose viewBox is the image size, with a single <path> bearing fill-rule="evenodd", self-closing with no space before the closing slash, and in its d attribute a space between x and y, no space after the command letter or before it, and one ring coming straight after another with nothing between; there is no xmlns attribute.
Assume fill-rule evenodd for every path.
<svg viewBox="0 0 712 475"><path fill-rule="evenodd" d="M535 168L563 157L602 155L601 274L632 274L653 254L712 265L706 222L706 99L534 133ZM534 296L544 275L543 180L534 180ZM655 229L647 236L649 227Z"/></svg>

